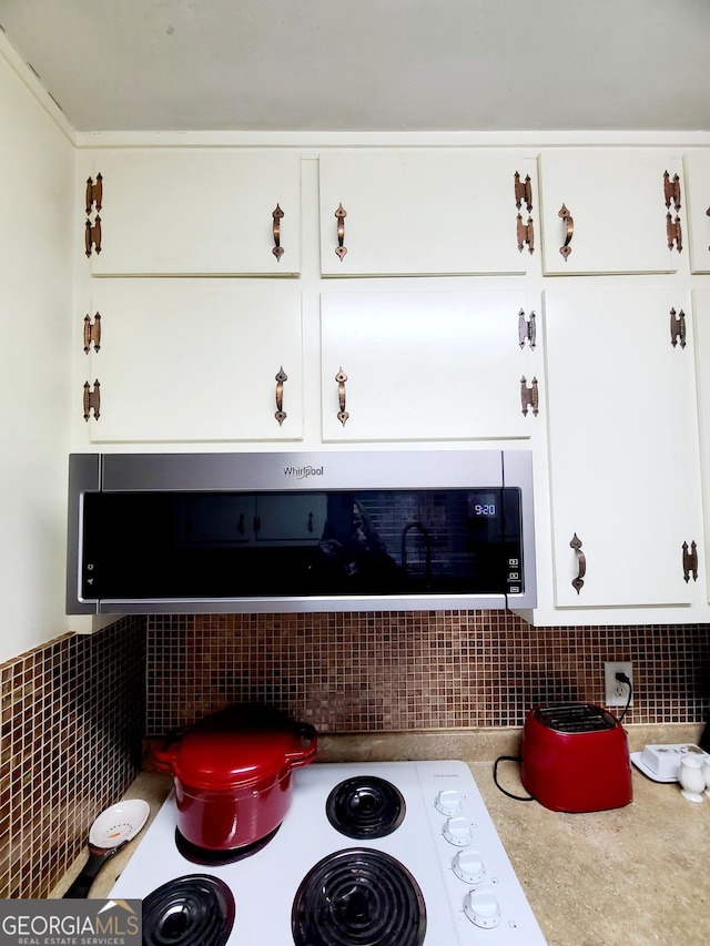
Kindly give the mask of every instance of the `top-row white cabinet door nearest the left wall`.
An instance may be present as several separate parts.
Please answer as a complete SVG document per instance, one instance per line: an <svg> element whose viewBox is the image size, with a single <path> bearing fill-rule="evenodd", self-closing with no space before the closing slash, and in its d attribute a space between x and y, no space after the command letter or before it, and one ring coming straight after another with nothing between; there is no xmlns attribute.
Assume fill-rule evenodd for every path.
<svg viewBox="0 0 710 946"><path fill-rule="evenodd" d="M100 206L90 187L87 195L85 247L94 275L301 272L296 152L102 150L88 175L102 190Z"/></svg>

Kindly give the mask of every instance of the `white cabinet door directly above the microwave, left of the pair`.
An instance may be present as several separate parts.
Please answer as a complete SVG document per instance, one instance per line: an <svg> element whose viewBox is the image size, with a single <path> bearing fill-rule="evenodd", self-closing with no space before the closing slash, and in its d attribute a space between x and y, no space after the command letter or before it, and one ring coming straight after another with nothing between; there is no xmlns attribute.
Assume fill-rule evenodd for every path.
<svg viewBox="0 0 710 946"><path fill-rule="evenodd" d="M298 440L301 294L225 279L94 279L92 443ZM281 383L276 375L286 376ZM278 409L285 417L275 416Z"/></svg>

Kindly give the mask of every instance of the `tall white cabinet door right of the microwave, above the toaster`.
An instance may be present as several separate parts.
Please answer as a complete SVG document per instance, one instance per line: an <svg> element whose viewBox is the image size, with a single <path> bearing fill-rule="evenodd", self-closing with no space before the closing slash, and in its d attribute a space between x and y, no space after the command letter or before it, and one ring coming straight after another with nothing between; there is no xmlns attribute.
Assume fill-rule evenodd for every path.
<svg viewBox="0 0 710 946"><path fill-rule="evenodd" d="M692 332L684 347L670 334L681 311L690 323L687 294L666 287L545 293L559 608L702 600L702 576L683 579L683 543L702 558L702 515Z"/></svg>

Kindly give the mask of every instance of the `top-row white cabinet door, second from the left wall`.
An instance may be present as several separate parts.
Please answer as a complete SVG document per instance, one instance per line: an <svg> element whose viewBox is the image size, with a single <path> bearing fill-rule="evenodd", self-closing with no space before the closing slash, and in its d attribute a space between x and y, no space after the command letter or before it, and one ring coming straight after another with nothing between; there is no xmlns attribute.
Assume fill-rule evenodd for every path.
<svg viewBox="0 0 710 946"><path fill-rule="evenodd" d="M523 199L516 173L521 190L529 179ZM320 181L324 276L523 274L531 265L537 162L525 152L332 152L320 156Z"/></svg>

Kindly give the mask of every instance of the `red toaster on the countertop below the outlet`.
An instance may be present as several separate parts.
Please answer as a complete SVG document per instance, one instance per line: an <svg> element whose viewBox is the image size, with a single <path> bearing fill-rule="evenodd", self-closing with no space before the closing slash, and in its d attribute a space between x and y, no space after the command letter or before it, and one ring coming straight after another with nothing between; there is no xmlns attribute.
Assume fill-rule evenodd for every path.
<svg viewBox="0 0 710 946"><path fill-rule="evenodd" d="M623 726L592 703L532 706L521 755L523 784L554 812L620 808L633 796Z"/></svg>

